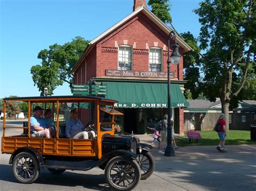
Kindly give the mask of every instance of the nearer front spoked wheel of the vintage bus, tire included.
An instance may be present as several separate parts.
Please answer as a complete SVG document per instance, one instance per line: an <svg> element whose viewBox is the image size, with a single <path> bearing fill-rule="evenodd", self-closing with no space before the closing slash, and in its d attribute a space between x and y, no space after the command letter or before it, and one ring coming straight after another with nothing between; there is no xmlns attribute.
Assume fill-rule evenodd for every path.
<svg viewBox="0 0 256 191"><path fill-rule="evenodd" d="M114 157L106 165L105 177L112 189L131 190L140 180L138 162L126 156Z"/></svg>

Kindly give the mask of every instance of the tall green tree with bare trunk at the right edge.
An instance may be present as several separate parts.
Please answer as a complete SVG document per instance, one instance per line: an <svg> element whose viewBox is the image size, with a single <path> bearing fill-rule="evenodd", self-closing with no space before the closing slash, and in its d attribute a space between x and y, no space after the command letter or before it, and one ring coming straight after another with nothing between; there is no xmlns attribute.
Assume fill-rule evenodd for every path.
<svg viewBox="0 0 256 191"><path fill-rule="evenodd" d="M205 0L194 10L202 25L200 48L206 50L203 92L211 101L220 97L226 121L230 102L244 86L249 65L255 61L255 10L254 0ZM236 75L241 65L244 70ZM237 88L234 81L240 81Z"/></svg>

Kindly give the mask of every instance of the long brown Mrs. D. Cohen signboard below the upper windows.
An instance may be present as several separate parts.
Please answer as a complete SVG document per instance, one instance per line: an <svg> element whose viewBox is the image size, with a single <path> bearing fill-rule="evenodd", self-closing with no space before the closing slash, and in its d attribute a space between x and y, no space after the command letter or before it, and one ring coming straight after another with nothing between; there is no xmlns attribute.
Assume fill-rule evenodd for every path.
<svg viewBox="0 0 256 191"><path fill-rule="evenodd" d="M145 72L145 71L132 71L132 70L105 70L106 76L125 76L125 77L163 77L167 78L166 72ZM170 77L174 77L171 72Z"/></svg>

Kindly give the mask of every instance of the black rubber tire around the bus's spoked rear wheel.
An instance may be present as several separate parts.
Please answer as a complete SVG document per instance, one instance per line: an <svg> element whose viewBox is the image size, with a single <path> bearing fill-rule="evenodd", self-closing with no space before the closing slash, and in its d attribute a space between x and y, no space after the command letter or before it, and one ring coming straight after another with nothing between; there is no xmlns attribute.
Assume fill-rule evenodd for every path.
<svg viewBox="0 0 256 191"><path fill-rule="evenodd" d="M18 158L20 158L22 156L29 157L35 165L35 174L28 180L19 179L18 176L16 175L16 169L15 169L16 168L16 162L17 162ZM32 182L36 181L38 176L39 176L39 173L40 173L40 167L39 167L38 160L35 157L35 155L30 153L30 152L21 152L21 153L17 154L16 157L14 158L14 161L12 161L12 173L14 174L14 176L15 176L15 178L18 182L32 183Z"/></svg>

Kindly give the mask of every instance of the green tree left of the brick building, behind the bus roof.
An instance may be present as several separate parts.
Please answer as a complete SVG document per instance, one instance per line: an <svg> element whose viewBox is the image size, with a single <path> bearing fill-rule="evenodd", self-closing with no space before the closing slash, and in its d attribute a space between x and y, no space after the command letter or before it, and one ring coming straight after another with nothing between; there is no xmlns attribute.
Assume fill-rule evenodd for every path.
<svg viewBox="0 0 256 191"><path fill-rule="evenodd" d="M53 90L63 82L68 82L72 88L74 77L69 73L88 43L89 41L84 38L76 37L64 45L53 44L49 49L43 49L38 53L37 58L42 60L41 65L32 66L30 72L40 96L44 95L45 87L48 88L48 95L52 95Z"/></svg>

